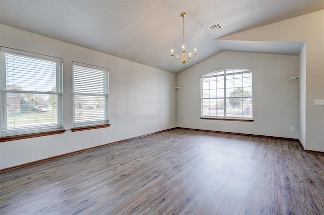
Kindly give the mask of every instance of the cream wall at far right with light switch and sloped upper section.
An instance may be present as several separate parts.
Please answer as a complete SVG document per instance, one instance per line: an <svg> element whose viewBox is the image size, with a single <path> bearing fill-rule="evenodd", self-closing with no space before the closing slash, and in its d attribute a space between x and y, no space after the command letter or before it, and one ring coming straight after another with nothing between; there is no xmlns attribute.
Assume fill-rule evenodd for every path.
<svg viewBox="0 0 324 215"><path fill-rule="evenodd" d="M248 31L225 36L219 39L239 41L303 41L306 42L306 52L301 55L306 58L301 68L301 93L306 93L301 99L300 139L307 150L324 151L324 105L314 105L314 99L324 99L324 10L284 20L281 22L254 28ZM305 50L303 50L305 51ZM303 63L304 64L304 63ZM305 86L303 86L305 85ZM304 92L305 91L305 92ZM305 120L303 118L305 117Z"/></svg>

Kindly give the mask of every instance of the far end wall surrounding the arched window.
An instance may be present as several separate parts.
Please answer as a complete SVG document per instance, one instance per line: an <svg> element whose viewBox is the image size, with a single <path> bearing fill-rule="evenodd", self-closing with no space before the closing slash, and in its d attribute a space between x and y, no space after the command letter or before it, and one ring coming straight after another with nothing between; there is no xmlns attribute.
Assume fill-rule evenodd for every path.
<svg viewBox="0 0 324 215"><path fill-rule="evenodd" d="M276 137L298 138L298 56L222 51L177 77L177 126ZM253 72L254 122L201 120L200 77L222 69ZM185 119L187 122L185 122Z"/></svg>

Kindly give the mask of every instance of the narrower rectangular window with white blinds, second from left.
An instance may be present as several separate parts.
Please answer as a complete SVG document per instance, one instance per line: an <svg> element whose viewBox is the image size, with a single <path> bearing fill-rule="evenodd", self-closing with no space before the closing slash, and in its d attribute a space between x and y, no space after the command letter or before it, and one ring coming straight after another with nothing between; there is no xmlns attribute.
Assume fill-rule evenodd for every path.
<svg viewBox="0 0 324 215"><path fill-rule="evenodd" d="M109 124L109 70L73 62L73 128Z"/></svg>

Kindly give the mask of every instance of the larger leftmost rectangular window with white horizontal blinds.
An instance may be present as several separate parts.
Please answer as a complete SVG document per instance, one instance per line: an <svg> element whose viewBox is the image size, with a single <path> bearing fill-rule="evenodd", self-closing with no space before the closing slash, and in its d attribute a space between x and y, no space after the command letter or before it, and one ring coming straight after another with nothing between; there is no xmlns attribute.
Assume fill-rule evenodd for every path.
<svg viewBox="0 0 324 215"><path fill-rule="evenodd" d="M1 137L63 129L62 59L0 47Z"/></svg>

